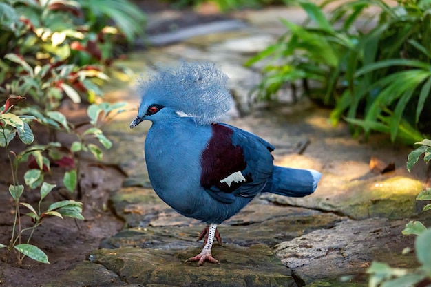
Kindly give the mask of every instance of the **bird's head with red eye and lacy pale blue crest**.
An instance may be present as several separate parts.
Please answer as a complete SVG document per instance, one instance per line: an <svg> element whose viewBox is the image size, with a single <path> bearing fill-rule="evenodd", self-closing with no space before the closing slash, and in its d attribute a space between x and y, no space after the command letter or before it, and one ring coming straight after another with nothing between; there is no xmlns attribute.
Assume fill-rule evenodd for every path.
<svg viewBox="0 0 431 287"><path fill-rule="evenodd" d="M233 106L226 82L227 76L208 63L182 62L178 68L160 68L141 85L138 116L130 128L143 120L176 116L193 117L198 125L216 122Z"/></svg>

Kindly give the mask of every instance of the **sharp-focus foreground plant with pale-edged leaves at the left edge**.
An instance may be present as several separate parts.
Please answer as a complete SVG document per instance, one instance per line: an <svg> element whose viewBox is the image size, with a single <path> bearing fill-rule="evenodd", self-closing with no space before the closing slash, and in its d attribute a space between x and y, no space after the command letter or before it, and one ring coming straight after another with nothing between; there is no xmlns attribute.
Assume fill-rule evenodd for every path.
<svg viewBox="0 0 431 287"><path fill-rule="evenodd" d="M8 154L8 161L12 174L12 184L10 184L9 186L9 193L12 196L15 208L10 242L9 244L0 244L0 248L6 248L8 250L8 259L10 257L10 253L12 251L16 251L18 264L22 263L25 256L28 256L38 262L49 263L47 255L37 246L30 244L30 240L32 238L35 228L40 226L43 220L50 216L56 216L60 218L72 217L82 220L82 204L81 202L76 202L74 200L63 200L50 204L48 209L42 211L41 203L50 193L50 191L52 191L52 189L55 187L54 184L48 184L47 182L41 182L40 184L38 184L41 185L41 198L36 208L26 202L21 201L21 195L23 195L25 187L23 184L19 183L19 178L17 176L19 161L23 156L25 156L25 153L35 153L36 151L40 151L39 149L33 148L17 154L10 149L10 142L17 135L21 142L23 142L25 145L31 145L34 141L34 135L32 133L32 129L30 129L30 125L28 125L28 122L37 120L37 118L28 115L17 116L11 111L14 105L22 102L23 100L25 100L25 98L22 98L20 96L8 98L8 100L6 100L6 103L0 109L0 147L6 148ZM43 165L43 161L39 161L38 164ZM34 182L37 182L39 178L31 171L32 170L27 171L24 176L25 184L28 188L30 188L30 190L33 189ZM30 210L30 213L27 213L26 215L31 217L33 226L24 228L21 224L20 206L25 206L27 209ZM30 234L27 235L26 240L23 239L23 234L25 232L30 232ZM8 264L8 259L1 268L0 282L1 277L3 276L4 268L6 268L6 264Z"/></svg>

